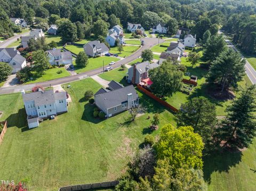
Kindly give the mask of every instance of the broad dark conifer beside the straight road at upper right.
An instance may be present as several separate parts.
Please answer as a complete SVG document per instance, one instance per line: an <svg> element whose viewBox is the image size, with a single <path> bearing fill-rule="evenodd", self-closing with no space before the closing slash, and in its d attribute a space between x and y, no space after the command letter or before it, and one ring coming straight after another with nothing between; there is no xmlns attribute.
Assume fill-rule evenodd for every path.
<svg viewBox="0 0 256 191"><path fill-rule="evenodd" d="M220 53L215 61L212 62L207 80L209 82L218 82L221 85L221 91L230 87L237 87L237 82L243 79L245 75L245 60L241 60L241 55L229 48Z"/></svg>

